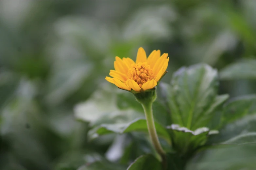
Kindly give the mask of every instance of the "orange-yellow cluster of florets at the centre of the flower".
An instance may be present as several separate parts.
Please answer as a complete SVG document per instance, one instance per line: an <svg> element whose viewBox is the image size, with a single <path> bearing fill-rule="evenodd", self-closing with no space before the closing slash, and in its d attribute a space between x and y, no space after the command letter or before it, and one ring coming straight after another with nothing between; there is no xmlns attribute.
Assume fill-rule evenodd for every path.
<svg viewBox="0 0 256 170"><path fill-rule="evenodd" d="M132 64L128 70L127 79L132 79L141 87L145 82L155 79L153 69L147 62Z"/></svg>

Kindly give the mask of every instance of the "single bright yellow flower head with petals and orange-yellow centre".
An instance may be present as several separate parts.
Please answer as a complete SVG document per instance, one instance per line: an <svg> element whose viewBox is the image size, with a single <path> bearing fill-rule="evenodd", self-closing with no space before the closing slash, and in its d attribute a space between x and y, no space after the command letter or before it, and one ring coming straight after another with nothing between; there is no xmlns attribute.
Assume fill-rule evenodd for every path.
<svg viewBox="0 0 256 170"><path fill-rule="evenodd" d="M152 89L165 74L169 58L167 53L160 57L160 50L154 50L146 56L145 50L141 47L137 53L136 62L130 58L115 57L114 68L110 70L106 80L115 84L120 89L131 89L135 92L143 92Z"/></svg>

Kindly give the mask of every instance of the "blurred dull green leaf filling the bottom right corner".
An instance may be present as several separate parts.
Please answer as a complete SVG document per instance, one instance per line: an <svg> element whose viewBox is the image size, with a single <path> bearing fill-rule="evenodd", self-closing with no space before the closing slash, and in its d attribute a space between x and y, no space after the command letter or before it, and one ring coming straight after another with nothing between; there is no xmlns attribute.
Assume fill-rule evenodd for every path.
<svg viewBox="0 0 256 170"><path fill-rule="evenodd" d="M254 170L256 144L217 146L197 153L186 170Z"/></svg>

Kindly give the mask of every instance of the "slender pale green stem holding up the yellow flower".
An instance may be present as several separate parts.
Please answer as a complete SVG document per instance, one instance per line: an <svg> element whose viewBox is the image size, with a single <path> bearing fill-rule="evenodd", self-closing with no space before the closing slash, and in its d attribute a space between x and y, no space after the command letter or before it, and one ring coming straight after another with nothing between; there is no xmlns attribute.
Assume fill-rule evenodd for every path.
<svg viewBox="0 0 256 170"><path fill-rule="evenodd" d="M144 112L145 112L145 117L147 121L147 129L151 138L151 141L156 149L156 151L160 154L162 158L162 164L163 168L166 169L166 156L165 152L162 149L162 146L159 142L157 132L156 132L156 127L154 123L154 117L153 117L153 111L152 111L152 104L153 102L145 102L142 104Z"/></svg>

